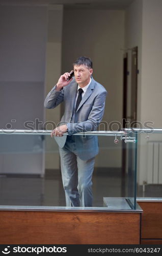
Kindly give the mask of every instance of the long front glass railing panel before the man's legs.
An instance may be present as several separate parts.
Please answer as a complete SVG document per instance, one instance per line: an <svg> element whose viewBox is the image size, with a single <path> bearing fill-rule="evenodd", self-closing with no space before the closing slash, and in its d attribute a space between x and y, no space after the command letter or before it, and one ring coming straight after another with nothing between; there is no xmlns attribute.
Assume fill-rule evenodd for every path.
<svg viewBox="0 0 162 256"><path fill-rule="evenodd" d="M92 175L93 204L85 208L136 208L136 140L131 141L134 134L125 135L125 132L73 135L74 138L95 136L99 144ZM0 139L0 205L67 208L59 147L55 138L50 137L50 131L3 130Z"/></svg>

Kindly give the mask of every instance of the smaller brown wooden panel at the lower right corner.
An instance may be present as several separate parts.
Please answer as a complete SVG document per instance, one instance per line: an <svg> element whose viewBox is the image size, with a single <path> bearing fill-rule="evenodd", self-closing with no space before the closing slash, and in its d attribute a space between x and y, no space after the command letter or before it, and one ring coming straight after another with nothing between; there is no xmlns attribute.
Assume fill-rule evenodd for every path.
<svg viewBox="0 0 162 256"><path fill-rule="evenodd" d="M143 209L142 239L162 239L162 203L138 202Z"/></svg>

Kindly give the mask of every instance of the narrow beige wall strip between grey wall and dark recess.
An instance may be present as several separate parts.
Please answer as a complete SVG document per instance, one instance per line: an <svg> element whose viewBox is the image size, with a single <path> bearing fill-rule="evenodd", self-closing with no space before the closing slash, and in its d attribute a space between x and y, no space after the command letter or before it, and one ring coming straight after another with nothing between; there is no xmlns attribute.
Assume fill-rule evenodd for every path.
<svg viewBox="0 0 162 256"><path fill-rule="evenodd" d="M48 39L46 45L46 87L45 97L53 86L57 83L61 75L61 56L62 56L62 23L63 23L63 6L53 5L48 7ZM46 121L60 121L61 105L53 110L45 110ZM55 128L55 127L54 127ZM53 130L52 124L46 126L47 130ZM58 145L55 139L46 136L45 167L47 169L58 169L60 159Z"/></svg>

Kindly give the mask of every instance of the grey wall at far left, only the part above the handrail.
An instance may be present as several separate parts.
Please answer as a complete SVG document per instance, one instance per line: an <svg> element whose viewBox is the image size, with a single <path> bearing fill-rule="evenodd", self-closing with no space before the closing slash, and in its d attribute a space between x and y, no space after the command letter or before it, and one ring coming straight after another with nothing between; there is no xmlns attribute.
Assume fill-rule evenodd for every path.
<svg viewBox="0 0 162 256"><path fill-rule="evenodd" d="M0 125L43 120L46 7L1 6Z"/></svg>

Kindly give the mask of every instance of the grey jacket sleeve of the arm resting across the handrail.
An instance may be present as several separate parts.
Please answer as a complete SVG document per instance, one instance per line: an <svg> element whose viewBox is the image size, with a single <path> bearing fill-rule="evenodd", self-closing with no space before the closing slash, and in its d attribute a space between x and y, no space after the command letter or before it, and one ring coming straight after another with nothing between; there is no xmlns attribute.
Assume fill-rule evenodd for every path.
<svg viewBox="0 0 162 256"><path fill-rule="evenodd" d="M97 126L103 117L106 94L107 92L104 91L95 98L88 120L84 122L66 124L69 135L79 132L96 131Z"/></svg>

